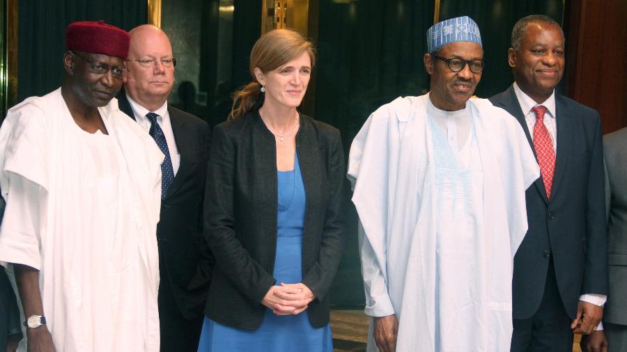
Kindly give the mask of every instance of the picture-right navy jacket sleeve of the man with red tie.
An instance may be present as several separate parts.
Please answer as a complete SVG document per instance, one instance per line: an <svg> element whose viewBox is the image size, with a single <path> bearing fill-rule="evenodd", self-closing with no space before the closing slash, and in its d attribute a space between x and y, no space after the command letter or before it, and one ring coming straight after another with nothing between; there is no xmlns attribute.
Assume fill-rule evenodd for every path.
<svg viewBox="0 0 627 352"><path fill-rule="evenodd" d="M586 207L586 264L581 294L607 294L607 223L603 187L603 138L601 119L591 146Z"/></svg>

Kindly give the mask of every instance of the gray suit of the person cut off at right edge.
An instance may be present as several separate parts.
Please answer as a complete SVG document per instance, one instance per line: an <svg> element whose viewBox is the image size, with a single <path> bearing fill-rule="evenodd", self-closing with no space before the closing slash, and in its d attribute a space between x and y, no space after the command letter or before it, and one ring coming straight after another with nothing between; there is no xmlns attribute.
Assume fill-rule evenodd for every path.
<svg viewBox="0 0 627 352"><path fill-rule="evenodd" d="M627 128L603 137L610 294L603 324L610 351L627 351Z"/></svg>

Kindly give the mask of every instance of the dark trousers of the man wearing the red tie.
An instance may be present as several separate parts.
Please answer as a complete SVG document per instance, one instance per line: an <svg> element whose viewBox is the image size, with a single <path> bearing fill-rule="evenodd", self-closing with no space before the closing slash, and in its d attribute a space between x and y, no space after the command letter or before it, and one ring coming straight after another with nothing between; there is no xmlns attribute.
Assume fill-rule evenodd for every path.
<svg viewBox="0 0 627 352"><path fill-rule="evenodd" d="M572 352L574 335L571 322L564 310L562 297L559 296L551 258L540 307L528 319L513 319L511 351Z"/></svg>

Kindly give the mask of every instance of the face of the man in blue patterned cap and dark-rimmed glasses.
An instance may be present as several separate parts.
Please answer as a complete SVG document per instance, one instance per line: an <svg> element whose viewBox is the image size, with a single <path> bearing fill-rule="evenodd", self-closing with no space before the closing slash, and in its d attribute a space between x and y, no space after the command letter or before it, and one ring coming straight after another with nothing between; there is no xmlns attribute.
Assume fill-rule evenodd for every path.
<svg viewBox="0 0 627 352"><path fill-rule="evenodd" d="M438 56L479 60L483 58L483 49L475 42L452 42L444 45ZM482 72L474 73L470 71L468 65L465 65L460 72L453 72L447 63L430 54L424 54L424 67L431 75L431 91L429 92L431 102L438 109L445 111L464 109L481 80Z"/></svg>

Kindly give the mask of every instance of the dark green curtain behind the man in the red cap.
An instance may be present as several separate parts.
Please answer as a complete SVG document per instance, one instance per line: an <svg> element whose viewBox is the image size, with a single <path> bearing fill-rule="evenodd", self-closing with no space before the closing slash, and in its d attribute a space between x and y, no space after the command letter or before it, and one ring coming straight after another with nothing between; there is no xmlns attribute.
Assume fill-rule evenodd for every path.
<svg viewBox="0 0 627 352"><path fill-rule="evenodd" d="M104 19L129 31L146 23L146 0L20 0L18 6L17 102L61 85L68 24Z"/></svg>

